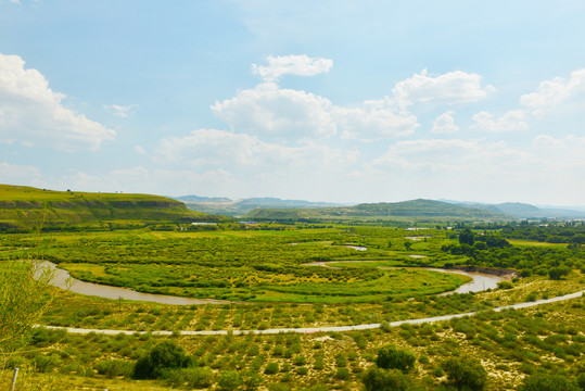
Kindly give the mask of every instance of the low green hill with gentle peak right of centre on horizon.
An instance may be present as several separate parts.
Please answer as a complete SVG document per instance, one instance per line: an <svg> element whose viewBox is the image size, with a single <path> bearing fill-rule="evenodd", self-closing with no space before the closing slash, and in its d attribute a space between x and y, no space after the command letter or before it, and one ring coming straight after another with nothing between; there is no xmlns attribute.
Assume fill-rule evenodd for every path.
<svg viewBox="0 0 585 391"><path fill-rule="evenodd" d="M251 219L417 219L417 220L504 220L510 217L478 207L454 205L432 200L367 203L343 207L296 210L257 209L250 212Z"/></svg>

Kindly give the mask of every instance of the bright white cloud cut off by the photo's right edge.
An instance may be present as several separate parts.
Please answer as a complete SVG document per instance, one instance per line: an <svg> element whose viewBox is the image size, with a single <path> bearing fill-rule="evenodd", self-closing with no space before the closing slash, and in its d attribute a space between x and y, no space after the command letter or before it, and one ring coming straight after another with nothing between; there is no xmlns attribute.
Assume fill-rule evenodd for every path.
<svg viewBox="0 0 585 391"><path fill-rule="evenodd" d="M547 109L562 103L567 98L585 90L585 68L573 71L571 78L555 77L542 81L536 92L520 97L520 103L531 109ZM541 114L541 112L536 112Z"/></svg>

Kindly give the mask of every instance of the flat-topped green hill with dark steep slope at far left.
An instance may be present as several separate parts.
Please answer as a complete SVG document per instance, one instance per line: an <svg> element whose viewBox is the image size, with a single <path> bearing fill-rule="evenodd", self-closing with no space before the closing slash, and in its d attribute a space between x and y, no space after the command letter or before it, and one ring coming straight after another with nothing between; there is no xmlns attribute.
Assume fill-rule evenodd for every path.
<svg viewBox="0 0 585 391"><path fill-rule="evenodd" d="M218 222L160 195L54 191L0 185L0 229Z"/></svg>

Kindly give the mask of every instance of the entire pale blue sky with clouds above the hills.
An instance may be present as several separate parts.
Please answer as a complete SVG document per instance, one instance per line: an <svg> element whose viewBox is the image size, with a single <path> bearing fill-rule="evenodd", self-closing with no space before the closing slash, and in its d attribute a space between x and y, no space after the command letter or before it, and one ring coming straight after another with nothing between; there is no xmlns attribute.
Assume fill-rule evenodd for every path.
<svg viewBox="0 0 585 391"><path fill-rule="evenodd" d="M583 205L583 1L0 0L0 182Z"/></svg>

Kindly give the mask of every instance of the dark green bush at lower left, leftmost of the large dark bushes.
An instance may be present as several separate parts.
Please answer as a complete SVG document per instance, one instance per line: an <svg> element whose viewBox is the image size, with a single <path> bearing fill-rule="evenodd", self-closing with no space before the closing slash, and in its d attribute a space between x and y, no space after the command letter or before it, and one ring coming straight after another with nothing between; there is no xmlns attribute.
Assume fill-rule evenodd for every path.
<svg viewBox="0 0 585 391"><path fill-rule="evenodd" d="M137 361L133 377L137 379L163 378L169 369L185 368L189 363L189 357L181 346L173 341L163 341Z"/></svg>

